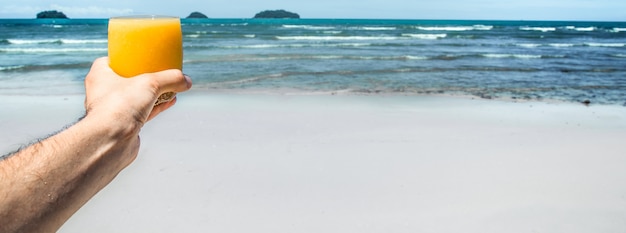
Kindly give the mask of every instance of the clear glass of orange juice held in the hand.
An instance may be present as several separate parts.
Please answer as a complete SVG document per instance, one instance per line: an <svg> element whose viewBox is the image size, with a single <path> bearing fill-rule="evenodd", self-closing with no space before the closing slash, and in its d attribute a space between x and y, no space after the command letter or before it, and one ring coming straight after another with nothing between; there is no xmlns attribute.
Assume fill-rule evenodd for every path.
<svg viewBox="0 0 626 233"><path fill-rule="evenodd" d="M120 76L183 68L180 18L170 16L123 16L109 19L109 66ZM165 93L155 105L176 94Z"/></svg>

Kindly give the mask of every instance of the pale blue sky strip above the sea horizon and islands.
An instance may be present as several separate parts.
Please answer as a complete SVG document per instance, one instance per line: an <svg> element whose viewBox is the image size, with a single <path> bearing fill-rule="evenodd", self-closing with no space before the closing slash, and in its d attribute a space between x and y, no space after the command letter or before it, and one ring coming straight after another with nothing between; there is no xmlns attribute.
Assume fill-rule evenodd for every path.
<svg viewBox="0 0 626 233"><path fill-rule="evenodd" d="M70 18L157 14L251 18L285 9L302 18L626 21L626 0L0 0L0 18L59 10Z"/></svg>

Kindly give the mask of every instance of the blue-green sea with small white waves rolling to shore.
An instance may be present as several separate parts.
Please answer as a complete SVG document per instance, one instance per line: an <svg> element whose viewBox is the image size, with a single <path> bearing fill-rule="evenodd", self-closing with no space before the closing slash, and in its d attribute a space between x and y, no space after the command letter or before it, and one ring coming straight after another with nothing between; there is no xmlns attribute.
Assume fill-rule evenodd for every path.
<svg viewBox="0 0 626 233"><path fill-rule="evenodd" d="M194 89L626 106L626 22L182 19ZM82 94L107 19L0 19L0 95Z"/></svg>

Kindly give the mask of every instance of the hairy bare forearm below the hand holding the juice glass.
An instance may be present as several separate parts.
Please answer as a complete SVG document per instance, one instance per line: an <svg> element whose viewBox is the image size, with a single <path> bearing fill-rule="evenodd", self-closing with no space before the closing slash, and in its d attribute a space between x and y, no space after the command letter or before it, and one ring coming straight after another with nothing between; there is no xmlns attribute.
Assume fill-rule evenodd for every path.
<svg viewBox="0 0 626 233"><path fill-rule="evenodd" d="M0 232L54 232L132 162L139 125L87 116L0 161Z"/></svg>

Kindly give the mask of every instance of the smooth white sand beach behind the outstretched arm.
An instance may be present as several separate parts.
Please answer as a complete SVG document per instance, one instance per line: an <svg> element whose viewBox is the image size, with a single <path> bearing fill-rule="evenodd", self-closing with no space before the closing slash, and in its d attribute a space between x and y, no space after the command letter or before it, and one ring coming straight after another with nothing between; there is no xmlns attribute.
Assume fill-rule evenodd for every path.
<svg viewBox="0 0 626 233"><path fill-rule="evenodd" d="M0 153L82 114L3 96ZM73 232L624 232L626 107L179 95Z"/></svg>

